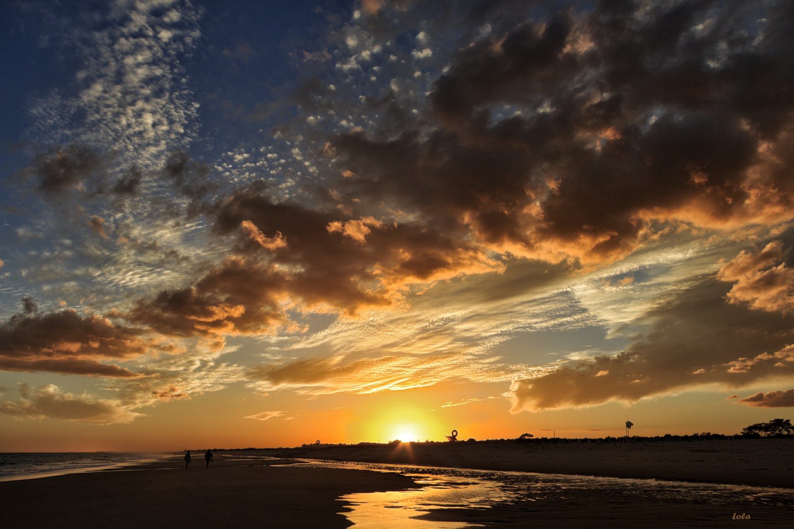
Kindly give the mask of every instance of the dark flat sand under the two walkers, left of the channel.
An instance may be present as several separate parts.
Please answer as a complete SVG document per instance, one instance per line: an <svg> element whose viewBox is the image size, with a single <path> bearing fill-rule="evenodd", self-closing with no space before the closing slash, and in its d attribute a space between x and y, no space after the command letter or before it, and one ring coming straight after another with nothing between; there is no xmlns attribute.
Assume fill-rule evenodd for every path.
<svg viewBox="0 0 794 529"><path fill-rule="evenodd" d="M197 454L198 455L198 454ZM408 477L366 470L275 466L291 461L233 461L206 468L198 456L127 470L0 482L0 527L349 527L349 493L414 487ZM133 470L130 470L133 469Z"/></svg>

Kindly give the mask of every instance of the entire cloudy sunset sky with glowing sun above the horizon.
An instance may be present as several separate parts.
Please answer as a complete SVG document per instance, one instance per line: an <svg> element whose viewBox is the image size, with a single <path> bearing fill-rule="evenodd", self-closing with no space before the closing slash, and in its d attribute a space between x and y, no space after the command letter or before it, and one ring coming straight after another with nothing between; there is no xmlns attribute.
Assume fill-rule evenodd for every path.
<svg viewBox="0 0 794 529"><path fill-rule="evenodd" d="M792 2L0 28L0 451L794 418Z"/></svg>

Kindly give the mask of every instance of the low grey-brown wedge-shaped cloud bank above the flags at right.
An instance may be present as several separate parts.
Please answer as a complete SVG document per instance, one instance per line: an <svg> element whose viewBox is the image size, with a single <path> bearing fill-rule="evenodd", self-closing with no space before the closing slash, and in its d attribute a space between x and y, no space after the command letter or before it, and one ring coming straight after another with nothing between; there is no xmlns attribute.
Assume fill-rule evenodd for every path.
<svg viewBox="0 0 794 529"><path fill-rule="evenodd" d="M696 282L639 322L649 331L616 356L561 366L518 380L514 411L568 408L642 397L676 388L720 384L738 388L794 374L794 320L725 302L728 288L713 278Z"/></svg>

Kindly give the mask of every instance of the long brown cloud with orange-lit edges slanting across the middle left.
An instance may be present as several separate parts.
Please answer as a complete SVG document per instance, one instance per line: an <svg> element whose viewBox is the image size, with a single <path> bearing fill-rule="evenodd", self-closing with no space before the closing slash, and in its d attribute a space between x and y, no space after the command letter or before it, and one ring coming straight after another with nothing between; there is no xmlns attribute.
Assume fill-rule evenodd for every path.
<svg viewBox="0 0 794 529"><path fill-rule="evenodd" d="M504 269L484 251L422 226L390 226L372 217L329 220L299 205L273 204L256 190L230 197L216 215L219 231L242 226L238 255L194 286L139 300L125 314L130 322L168 336L203 336L222 347L225 335L299 330L285 306L356 316L401 306L407 286ZM262 249L270 252L266 258Z"/></svg>

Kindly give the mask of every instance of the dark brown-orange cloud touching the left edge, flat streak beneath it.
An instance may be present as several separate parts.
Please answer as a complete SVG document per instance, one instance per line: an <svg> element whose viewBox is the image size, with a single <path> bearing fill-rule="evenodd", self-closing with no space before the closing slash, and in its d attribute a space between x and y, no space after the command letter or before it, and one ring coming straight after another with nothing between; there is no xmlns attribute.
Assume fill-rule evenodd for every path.
<svg viewBox="0 0 794 529"><path fill-rule="evenodd" d="M32 299L23 301L25 312L0 324L0 370L136 378L142 375L99 360L136 358L156 347L140 329L74 310L42 313Z"/></svg>

